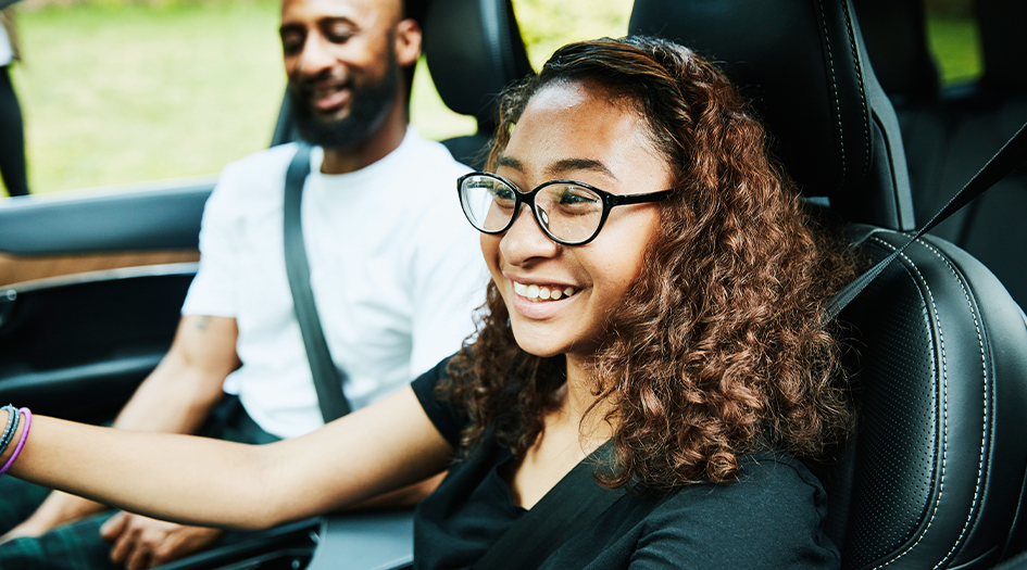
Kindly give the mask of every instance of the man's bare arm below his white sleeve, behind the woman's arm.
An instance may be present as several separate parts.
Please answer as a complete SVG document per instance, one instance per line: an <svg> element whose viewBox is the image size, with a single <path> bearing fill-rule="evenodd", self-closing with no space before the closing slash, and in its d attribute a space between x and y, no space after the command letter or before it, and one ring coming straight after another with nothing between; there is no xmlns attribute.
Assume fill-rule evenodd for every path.
<svg viewBox="0 0 1027 570"><path fill-rule="evenodd" d="M238 334L234 318L183 317L171 350L133 394L114 427L131 431L196 432L221 400L225 377L239 366ZM32 517L0 537L0 542L38 536L104 508L99 503L54 492Z"/></svg>

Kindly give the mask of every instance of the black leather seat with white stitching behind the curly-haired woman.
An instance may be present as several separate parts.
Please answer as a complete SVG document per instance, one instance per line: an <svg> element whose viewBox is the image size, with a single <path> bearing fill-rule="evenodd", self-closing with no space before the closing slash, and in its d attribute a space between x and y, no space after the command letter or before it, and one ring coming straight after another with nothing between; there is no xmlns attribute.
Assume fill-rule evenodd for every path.
<svg viewBox="0 0 1027 570"><path fill-rule="evenodd" d="M724 62L865 255L909 239L901 136L848 1L637 0L629 28ZM1023 549L1027 318L999 280L926 237L839 321L859 410L823 469L842 567L990 568Z"/></svg>

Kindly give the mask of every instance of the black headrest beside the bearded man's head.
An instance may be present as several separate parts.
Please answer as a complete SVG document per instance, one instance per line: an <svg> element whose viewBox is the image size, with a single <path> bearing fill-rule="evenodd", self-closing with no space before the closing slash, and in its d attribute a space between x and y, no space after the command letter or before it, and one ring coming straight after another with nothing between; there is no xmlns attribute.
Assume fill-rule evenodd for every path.
<svg viewBox="0 0 1027 570"><path fill-rule="evenodd" d="M510 0L433 0L424 52L442 102L477 118L479 134L496 127L500 91L534 73Z"/></svg>

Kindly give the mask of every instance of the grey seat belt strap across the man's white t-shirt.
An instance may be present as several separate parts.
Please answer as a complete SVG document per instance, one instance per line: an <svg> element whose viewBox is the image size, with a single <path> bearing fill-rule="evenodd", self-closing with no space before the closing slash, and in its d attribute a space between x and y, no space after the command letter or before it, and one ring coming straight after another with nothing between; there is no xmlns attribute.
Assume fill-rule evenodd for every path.
<svg viewBox="0 0 1027 570"><path fill-rule="evenodd" d="M314 292L310 287L310 264L306 261L300 215L303 185L310 174L310 151L309 144L299 143L299 149L286 172L283 204L285 261L289 289L292 291L292 305L303 334L303 346L306 349L306 358L314 377L314 389L317 391L317 404L321 406L321 416L327 423L349 414L350 404L342 393L346 372L331 359L321 318L317 316Z"/></svg>

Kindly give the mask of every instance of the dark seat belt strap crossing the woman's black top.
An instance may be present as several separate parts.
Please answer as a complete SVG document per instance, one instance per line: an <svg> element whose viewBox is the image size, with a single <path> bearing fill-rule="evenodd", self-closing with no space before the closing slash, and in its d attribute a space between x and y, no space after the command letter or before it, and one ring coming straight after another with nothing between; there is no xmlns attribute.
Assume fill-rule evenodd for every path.
<svg viewBox="0 0 1027 570"><path fill-rule="evenodd" d="M489 547L474 570L538 568L605 512L625 494L623 489L600 485L592 476L597 466L609 465L602 458L612 449L613 443L608 441L576 465Z"/></svg>

